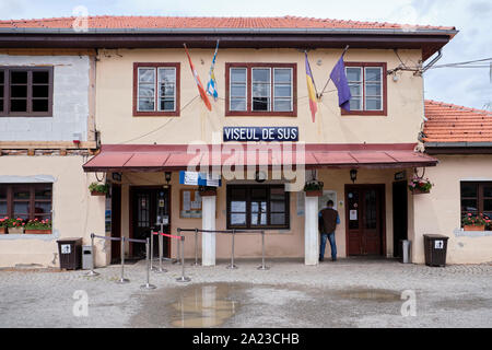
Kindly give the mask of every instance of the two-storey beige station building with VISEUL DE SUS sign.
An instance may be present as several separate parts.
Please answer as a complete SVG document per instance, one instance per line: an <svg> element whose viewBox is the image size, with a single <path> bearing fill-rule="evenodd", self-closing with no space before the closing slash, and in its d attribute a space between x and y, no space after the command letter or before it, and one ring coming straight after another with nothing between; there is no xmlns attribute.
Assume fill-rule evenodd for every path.
<svg viewBox="0 0 492 350"><path fill-rule="evenodd" d="M429 206L449 194L438 191L445 179L437 174L447 173L441 158L423 153L425 142L419 140L423 78L419 69L399 68L405 61L421 69L453 38L455 28L408 31L399 25L289 16L90 18L84 33L74 31L70 19L15 23L22 25L39 28L19 33L10 22L3 23L3 65L9 70L10 65L36 65L34 58L43 58L42 65L54 67L52 115L0 118L4 130L0 145L7 155L0 158L1 186L7 213L15 217L21 214L15 184L24 186L47 175L44 184L52 184L54 230L43 237L0 236L0 265L49 265L57 237L81 236L84 244L90 233L143 238L161 224L167 233L195 228L248 231L235 236L236 257L261 256L257 231L262 230L268 257L297 257L316 265L317 214L328 199L340 214L336 231L340 257L394 257L400 240L410 240L412 261L423 262L424 234L453 234L429 217L433 212ZM20 45L12 37L20 35L31 56L12 55L12 47ZM42 55L39 36L49 43L50 55ZM218 40L219 97L209 96L209 109L198 94L183 44L207 85ZM347 45L351 112L339 107L337 90L328 83L313 120L305 51L321 92ZM62 54L70 50L66 58ZM25 126L17 120L34 128L17 130L22 139L13 133ZM74 133L82 142L73 142ZM42 155L39 150L48 144L67 155ZM36 151L34 156L19 155L17 149L26 154L28 149ZM444 163L452 164L447 159ZM219 172L222 184L207 196L181 184L179 172L186 170ZM408 184L424 171L440 180L432 179L436 186L431 194L414 195ZM324 183L323 197L305 195L309 179ZM106 198L90 195L92 182L110 186ZM34 218L36 189L31 192ZM434 212L440 215L440 210ZM185 256L194 257L194 234L184 234ZM203 265L229 258L231 240L230 234L202 233L197 249ZM462 253L456 247L468 245L462 240L468 237L452 240L450 262L492 259L488 252ZM475 242L479 241L473 247ZM117 245L101 243L96 253L98 265L121 254ZM125 247L126 256L142 254L140 244ZM164 242L164 255L176 257L174 242Z"/></svg>

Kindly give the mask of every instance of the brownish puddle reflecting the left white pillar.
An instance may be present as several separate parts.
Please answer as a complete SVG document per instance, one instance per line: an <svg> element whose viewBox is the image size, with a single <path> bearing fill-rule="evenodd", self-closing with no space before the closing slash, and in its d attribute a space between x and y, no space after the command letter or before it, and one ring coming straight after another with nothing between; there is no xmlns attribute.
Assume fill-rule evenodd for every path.
<svg viewBox="0 0 492 350"><path fill-rule="evenodd" d="M172 304L174 327L216 327L231 318L238 307L238 302L229 300L230 288L224 284L190 285Z"/></svg>

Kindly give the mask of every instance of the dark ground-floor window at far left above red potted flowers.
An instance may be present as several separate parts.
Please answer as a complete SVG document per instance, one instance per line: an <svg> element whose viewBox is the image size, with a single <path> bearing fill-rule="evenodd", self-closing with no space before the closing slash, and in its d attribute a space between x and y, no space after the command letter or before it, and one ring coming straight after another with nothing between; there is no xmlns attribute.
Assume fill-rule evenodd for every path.
<svg viewBox="0 0 492 350"><path fill-rule="evenodd" d="M0 218L51 220L51 184L0 184Z"/></svg>

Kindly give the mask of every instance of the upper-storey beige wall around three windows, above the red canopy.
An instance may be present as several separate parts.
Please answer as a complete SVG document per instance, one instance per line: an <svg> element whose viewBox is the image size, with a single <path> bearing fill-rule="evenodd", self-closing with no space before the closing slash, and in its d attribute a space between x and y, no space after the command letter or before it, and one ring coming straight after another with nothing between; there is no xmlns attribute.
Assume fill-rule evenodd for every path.
<svg viewBox="0 0 492 350"><path fill-rule="evenodd" d="M207 84L213 51L190 49L190 54L201 81ZM318 89L325 85L340 54L335 49L309 52ZM421 58L420 50L400 50L399 55L411 62ZM102 50L98 59L96 122L103 144L211 142L213 132L222 136L223 126L298 126L300 140L308 143L405 143L417 142L422 122L422 78L400 72L398 82L390 77L387 79L387 116L340 116L337 91L330 83L313 124L304 54L295 49L220 49L215 66L220 98L212 100L212 112L207 110L200 98L194 100L198 91L183 49ZM388 69L400 65L393 50L349 49L345 61L387 62ZM180 62L180 106L184 109L180 117L132 117L133 62ZM297 117L225 117L225 62L297 63Z"/></svg>

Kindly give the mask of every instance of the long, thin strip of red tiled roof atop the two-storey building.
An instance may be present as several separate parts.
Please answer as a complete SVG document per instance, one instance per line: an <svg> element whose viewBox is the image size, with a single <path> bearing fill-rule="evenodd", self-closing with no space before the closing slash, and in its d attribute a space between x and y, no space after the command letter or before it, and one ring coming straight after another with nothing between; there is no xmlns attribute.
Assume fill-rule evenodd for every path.
<svg viewBox="0 0 492 350"><path fill-rule="evenodd" d="M71 28L75 18L0 21L0 28ZM406 25L339 21L300 16L191 18L191 16L89 16L90 28L375 28L455 30L449 26Z"/></svg>

